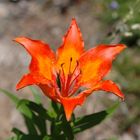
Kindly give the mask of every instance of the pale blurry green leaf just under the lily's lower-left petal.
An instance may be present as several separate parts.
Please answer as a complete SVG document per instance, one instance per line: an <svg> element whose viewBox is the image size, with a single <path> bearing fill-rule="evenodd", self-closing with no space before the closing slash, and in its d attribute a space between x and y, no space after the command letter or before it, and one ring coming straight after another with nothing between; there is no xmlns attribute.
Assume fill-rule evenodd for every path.
<svg viewBox="0 0 140 140"><path fill-rule="evenodd" d="M35 103L41 104L41 94L34 87L30 86L29 89L33 93Z"/></svg>

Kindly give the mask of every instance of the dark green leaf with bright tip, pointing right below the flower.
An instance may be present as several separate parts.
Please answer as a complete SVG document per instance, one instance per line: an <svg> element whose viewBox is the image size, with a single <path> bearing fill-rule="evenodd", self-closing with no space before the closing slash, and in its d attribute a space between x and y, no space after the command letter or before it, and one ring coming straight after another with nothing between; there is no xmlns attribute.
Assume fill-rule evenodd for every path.
<svg viewBox="0 0 140 140"><path fill-rule="evenodd" d="M112 115L112 113L117 109L118 105L119 103L116 103L107 110L76 119L74 121L73 132L79 133L95 125L100 124L103 120Z"/></svg>

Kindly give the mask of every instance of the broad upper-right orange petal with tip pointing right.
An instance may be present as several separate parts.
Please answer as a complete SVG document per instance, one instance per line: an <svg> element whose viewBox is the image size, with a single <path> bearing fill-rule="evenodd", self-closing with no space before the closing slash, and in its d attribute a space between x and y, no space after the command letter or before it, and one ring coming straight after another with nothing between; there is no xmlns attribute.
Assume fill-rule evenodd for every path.
<svg viewBox="0 0 140 140"><path fill-rule="evenodd" d="M79 59L81 67L80 83L90 84L101 80L111 69L112 61L125 46L118 45L99 45L85 52Z"/></svg>

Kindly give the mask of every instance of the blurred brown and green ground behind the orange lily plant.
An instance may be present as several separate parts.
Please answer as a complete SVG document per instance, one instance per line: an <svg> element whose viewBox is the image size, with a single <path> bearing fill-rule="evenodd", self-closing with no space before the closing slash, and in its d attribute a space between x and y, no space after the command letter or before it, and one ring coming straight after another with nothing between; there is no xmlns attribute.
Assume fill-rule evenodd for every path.
<svg viewBox="0 0 140 140"><path fill-rule="evenodd" d="M107 76L120 85L125 101L110 119L78 134L77 140L140 140L139 15L140 0L0 0L0 87L32 99L28 87L15 91L18 80L28 71L30 57L12 40L27 36L43 40L56 50L75 17L87 49L100 43L128 46ZM116 100L113 94L98 92L75 113L98 112ZM43 94L42 101L46 104ZM0 140L11 136L13 127L26 131L16 107L0 94Z"/></svg>

